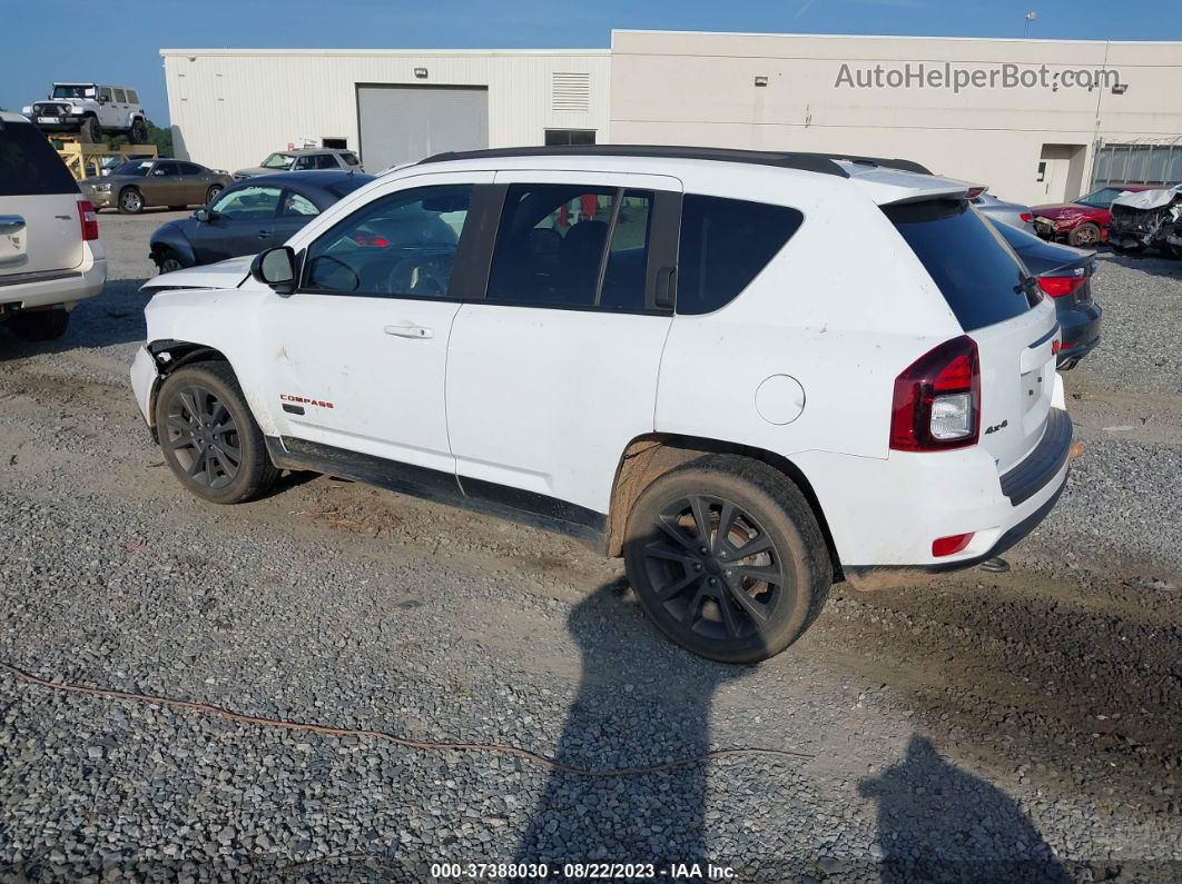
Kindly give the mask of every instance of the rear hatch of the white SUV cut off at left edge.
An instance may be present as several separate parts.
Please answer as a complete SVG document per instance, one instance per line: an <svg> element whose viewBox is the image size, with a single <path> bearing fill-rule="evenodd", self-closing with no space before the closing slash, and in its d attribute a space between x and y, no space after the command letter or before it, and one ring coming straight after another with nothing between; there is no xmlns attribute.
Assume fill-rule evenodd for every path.
<svg viewBox="0 0 1182 884"><path fill-rule="evenodd" d="M0 281L82 263L80 198L41 131L0 117Z"/></svg>

